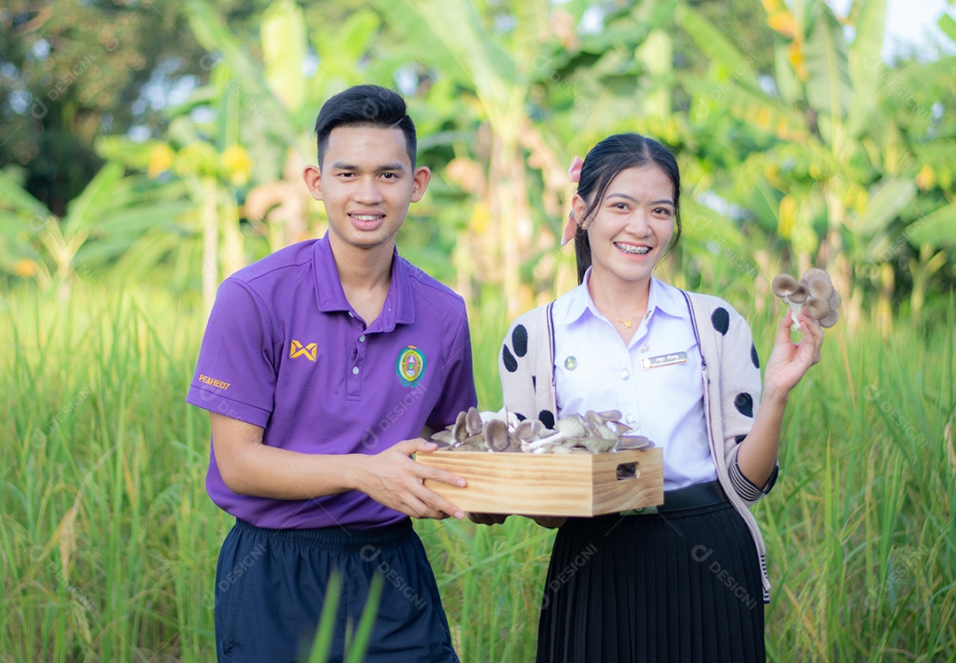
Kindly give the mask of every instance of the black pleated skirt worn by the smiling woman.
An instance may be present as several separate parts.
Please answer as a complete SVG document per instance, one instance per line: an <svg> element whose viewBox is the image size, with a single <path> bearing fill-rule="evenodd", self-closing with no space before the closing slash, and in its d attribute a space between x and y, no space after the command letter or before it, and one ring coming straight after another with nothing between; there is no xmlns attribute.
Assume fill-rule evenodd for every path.
<svg viewBox="0 0 956 663"><path fill-rule="evenodd" d="M558 530L538 663L765 660L757 551L730 503Z"/></svg>

